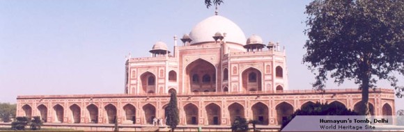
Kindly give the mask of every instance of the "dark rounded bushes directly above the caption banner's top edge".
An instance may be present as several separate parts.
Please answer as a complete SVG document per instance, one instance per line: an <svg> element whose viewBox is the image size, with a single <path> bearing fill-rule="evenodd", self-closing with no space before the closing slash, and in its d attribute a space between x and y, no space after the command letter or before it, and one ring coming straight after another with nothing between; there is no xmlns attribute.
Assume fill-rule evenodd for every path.
<svg viewBox="0 0 404 132"><path fill-rule="evenodd" d="M289 124L289 122L296 115L358 115L352 110L348 110L345 106L342 105L334 105L334 104L320 104L316 102L316 104L309 104L302 109L298 109L286 119L286 122L282 123L281 130Z"/></svg>

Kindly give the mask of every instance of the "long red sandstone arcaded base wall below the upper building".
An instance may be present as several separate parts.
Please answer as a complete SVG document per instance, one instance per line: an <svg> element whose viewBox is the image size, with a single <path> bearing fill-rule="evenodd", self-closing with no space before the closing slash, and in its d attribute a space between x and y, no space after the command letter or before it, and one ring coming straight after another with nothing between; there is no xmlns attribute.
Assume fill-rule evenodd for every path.
<svg viewBox="0 0 404 132"><path fill-rule="evenodd" d="M265 125L277 125L281 124L282 117L316 101L355 110L361 96L361 91L354 89L195 92L178 94L178 106L180 124L230 125L234 117L241 116L263 119ZM168 103L169 94L159 93L19 96L17 116L41 116L42 120L53 123L109 124L116 121L143 125L151 124L153 117L164 119ZM369 103L374 106L375 115L394 115L393 90L371 90ZM189 120L193 118L194 121Z"/></svg>

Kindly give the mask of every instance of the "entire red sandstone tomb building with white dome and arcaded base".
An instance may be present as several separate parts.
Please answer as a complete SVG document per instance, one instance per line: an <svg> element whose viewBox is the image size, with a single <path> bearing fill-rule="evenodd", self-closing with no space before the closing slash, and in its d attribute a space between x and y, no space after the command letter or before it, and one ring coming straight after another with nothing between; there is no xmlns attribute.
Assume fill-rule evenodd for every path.
<svg viewBox="0 0 404 132"><path fill-rule="evenodd" d="M164 119L170 92L178 93L185 125L230 125L235 117L278 125L316 101L358 110L359 90L288 90L286 51L264 45L258 35L246 41L234 25L215 15L184 35L182 46L175 37L173 53L157 42L151 57L127 58L124 94L19 96L17 116L68 124L152 124L154 117ZM394 91L371 91L369 105L372 115L394 115Z"/></svg>

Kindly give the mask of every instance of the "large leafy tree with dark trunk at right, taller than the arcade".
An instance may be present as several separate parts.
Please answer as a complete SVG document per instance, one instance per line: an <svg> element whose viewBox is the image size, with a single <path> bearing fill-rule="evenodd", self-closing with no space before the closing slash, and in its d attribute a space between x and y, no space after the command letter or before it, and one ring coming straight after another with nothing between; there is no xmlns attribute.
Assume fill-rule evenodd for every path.
<svg viewBox="0 0 404 132"><path fill-rule="evenodd" d="M390 81L401 97L404 87L394 74L404 74L404 1L315 0L305 13L303 63L318 72L314 89L324 90L327 73L339 85L354 79L362 90L361 115L378 80Z"/></svg>

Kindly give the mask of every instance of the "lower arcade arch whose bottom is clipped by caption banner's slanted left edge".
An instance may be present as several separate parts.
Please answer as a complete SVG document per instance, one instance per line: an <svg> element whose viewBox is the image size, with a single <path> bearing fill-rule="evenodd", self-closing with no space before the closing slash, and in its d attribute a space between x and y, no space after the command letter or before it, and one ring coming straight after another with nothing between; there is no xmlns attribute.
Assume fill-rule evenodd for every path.
<svg viewBox="0 0 404 132"><path fill-rule="evenodd" d="M286 101L278 104L275 109L277 110L277 123L282 124L288 119L288 116L292 115L294 110L293 106Z"/></svg>

